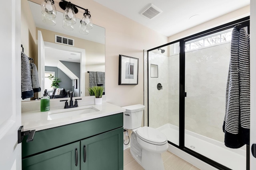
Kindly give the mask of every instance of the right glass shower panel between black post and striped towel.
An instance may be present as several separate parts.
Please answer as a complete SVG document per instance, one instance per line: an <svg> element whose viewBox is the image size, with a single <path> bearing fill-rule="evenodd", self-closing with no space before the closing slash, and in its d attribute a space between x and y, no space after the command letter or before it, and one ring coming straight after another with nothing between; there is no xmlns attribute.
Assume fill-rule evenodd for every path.
<svg viewBox="0 0 256 170"><path fill-rule="evenodd" d="M232 29L185 43L184 145L232 170L245 170L246 146L229 149L223 143L230 31Z"/></svg>

